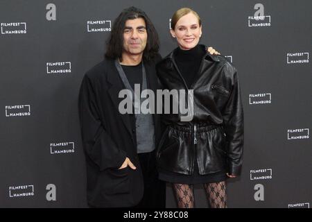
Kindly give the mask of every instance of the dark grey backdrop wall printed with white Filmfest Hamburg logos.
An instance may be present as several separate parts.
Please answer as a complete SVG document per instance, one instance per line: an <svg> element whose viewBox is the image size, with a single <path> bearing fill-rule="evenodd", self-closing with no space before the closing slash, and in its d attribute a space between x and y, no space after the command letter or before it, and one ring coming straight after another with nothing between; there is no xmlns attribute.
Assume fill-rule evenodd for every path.
<svg viewBox="0 0 312 222"><path fill-rule="evenodd" d="M190 7L201 43L239 71L243 171L228 207L310 207L312 1L0 1L0 207L87 207L78 90L123 8L143 9L166 56L169 19ZM167 185L167 207L176 207ZM207 207L197 185L196 207Z"/></svg>

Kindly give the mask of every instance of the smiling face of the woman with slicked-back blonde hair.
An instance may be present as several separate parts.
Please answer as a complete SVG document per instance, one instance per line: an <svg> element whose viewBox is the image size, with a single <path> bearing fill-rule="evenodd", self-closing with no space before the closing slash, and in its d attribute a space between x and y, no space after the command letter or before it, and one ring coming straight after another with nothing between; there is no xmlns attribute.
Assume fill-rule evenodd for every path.
<svg viewBox="0 0 312 222"><path fill-rule="evenodd" d="M198 18L192 13L182 16L175 24L175 29L171 29L171 35L177 39L177 44L183 50L195 47L202 35L202 26Z"/></svg>

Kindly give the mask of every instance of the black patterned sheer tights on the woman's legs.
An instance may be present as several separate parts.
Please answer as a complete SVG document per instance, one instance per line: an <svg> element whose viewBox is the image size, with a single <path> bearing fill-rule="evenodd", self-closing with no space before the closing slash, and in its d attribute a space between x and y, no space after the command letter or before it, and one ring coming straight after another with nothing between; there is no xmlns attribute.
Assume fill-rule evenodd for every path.
<svg viewBox="0 0 312 222"><path fill-rule="evenodd" d="M225 181L204 184L206 196L211 208L226 208L227 195ZM177 199L177 207L194 207L194 186L173 183L173 191Z"/></svg>

